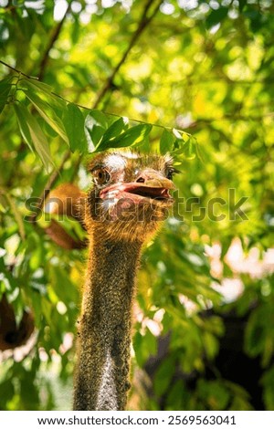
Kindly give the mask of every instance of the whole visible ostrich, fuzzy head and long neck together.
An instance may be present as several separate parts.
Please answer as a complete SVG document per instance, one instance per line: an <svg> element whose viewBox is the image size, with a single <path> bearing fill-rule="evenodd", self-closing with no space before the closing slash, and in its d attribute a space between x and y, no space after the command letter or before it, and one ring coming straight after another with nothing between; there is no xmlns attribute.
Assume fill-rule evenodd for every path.
<svg viewBox="0 0 274 429"><path fill-rule="evenodd" d="M90 163L90 238L79 319L75 410L124 410L130 388L134 280L142 245L173 204L170 156L107 152ZM160 222L159 222L160 221Z"/></svg>

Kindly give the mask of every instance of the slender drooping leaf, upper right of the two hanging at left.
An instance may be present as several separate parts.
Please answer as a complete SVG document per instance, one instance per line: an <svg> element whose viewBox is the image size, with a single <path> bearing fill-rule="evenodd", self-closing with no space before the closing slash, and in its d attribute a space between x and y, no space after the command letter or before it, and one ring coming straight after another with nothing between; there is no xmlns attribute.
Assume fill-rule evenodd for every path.
<svg viewBox="0 0 274 429"><path fill-rule="evenodd" d="M52 109L50 105L43 99L40 99L37 94L32 90L28 89L24 91L26 94L27 99L30 100L30 102L34 105L34 107L37 109L40 116L46 120L47 124L58 133L58 135L68 143L68 136L65 132L63 123L61 120L59 120L56 112ZM49 112L51 113L51 116L49 115Z"/></svg>

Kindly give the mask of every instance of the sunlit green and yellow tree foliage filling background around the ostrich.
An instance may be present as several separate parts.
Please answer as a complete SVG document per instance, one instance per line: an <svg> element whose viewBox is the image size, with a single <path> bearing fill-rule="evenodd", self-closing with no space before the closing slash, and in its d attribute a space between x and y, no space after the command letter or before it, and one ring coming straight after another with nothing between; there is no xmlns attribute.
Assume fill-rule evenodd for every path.
<svg viewBox="0 0 274 429"><path fill-rule="evenodd" d="M0 1L1 409L71 406L86 250L54 243L41 209L60 183L89 189L87 159L121 147L170 152L180 172L142 256L130 409L274 409L273 13Z"/></svg>

